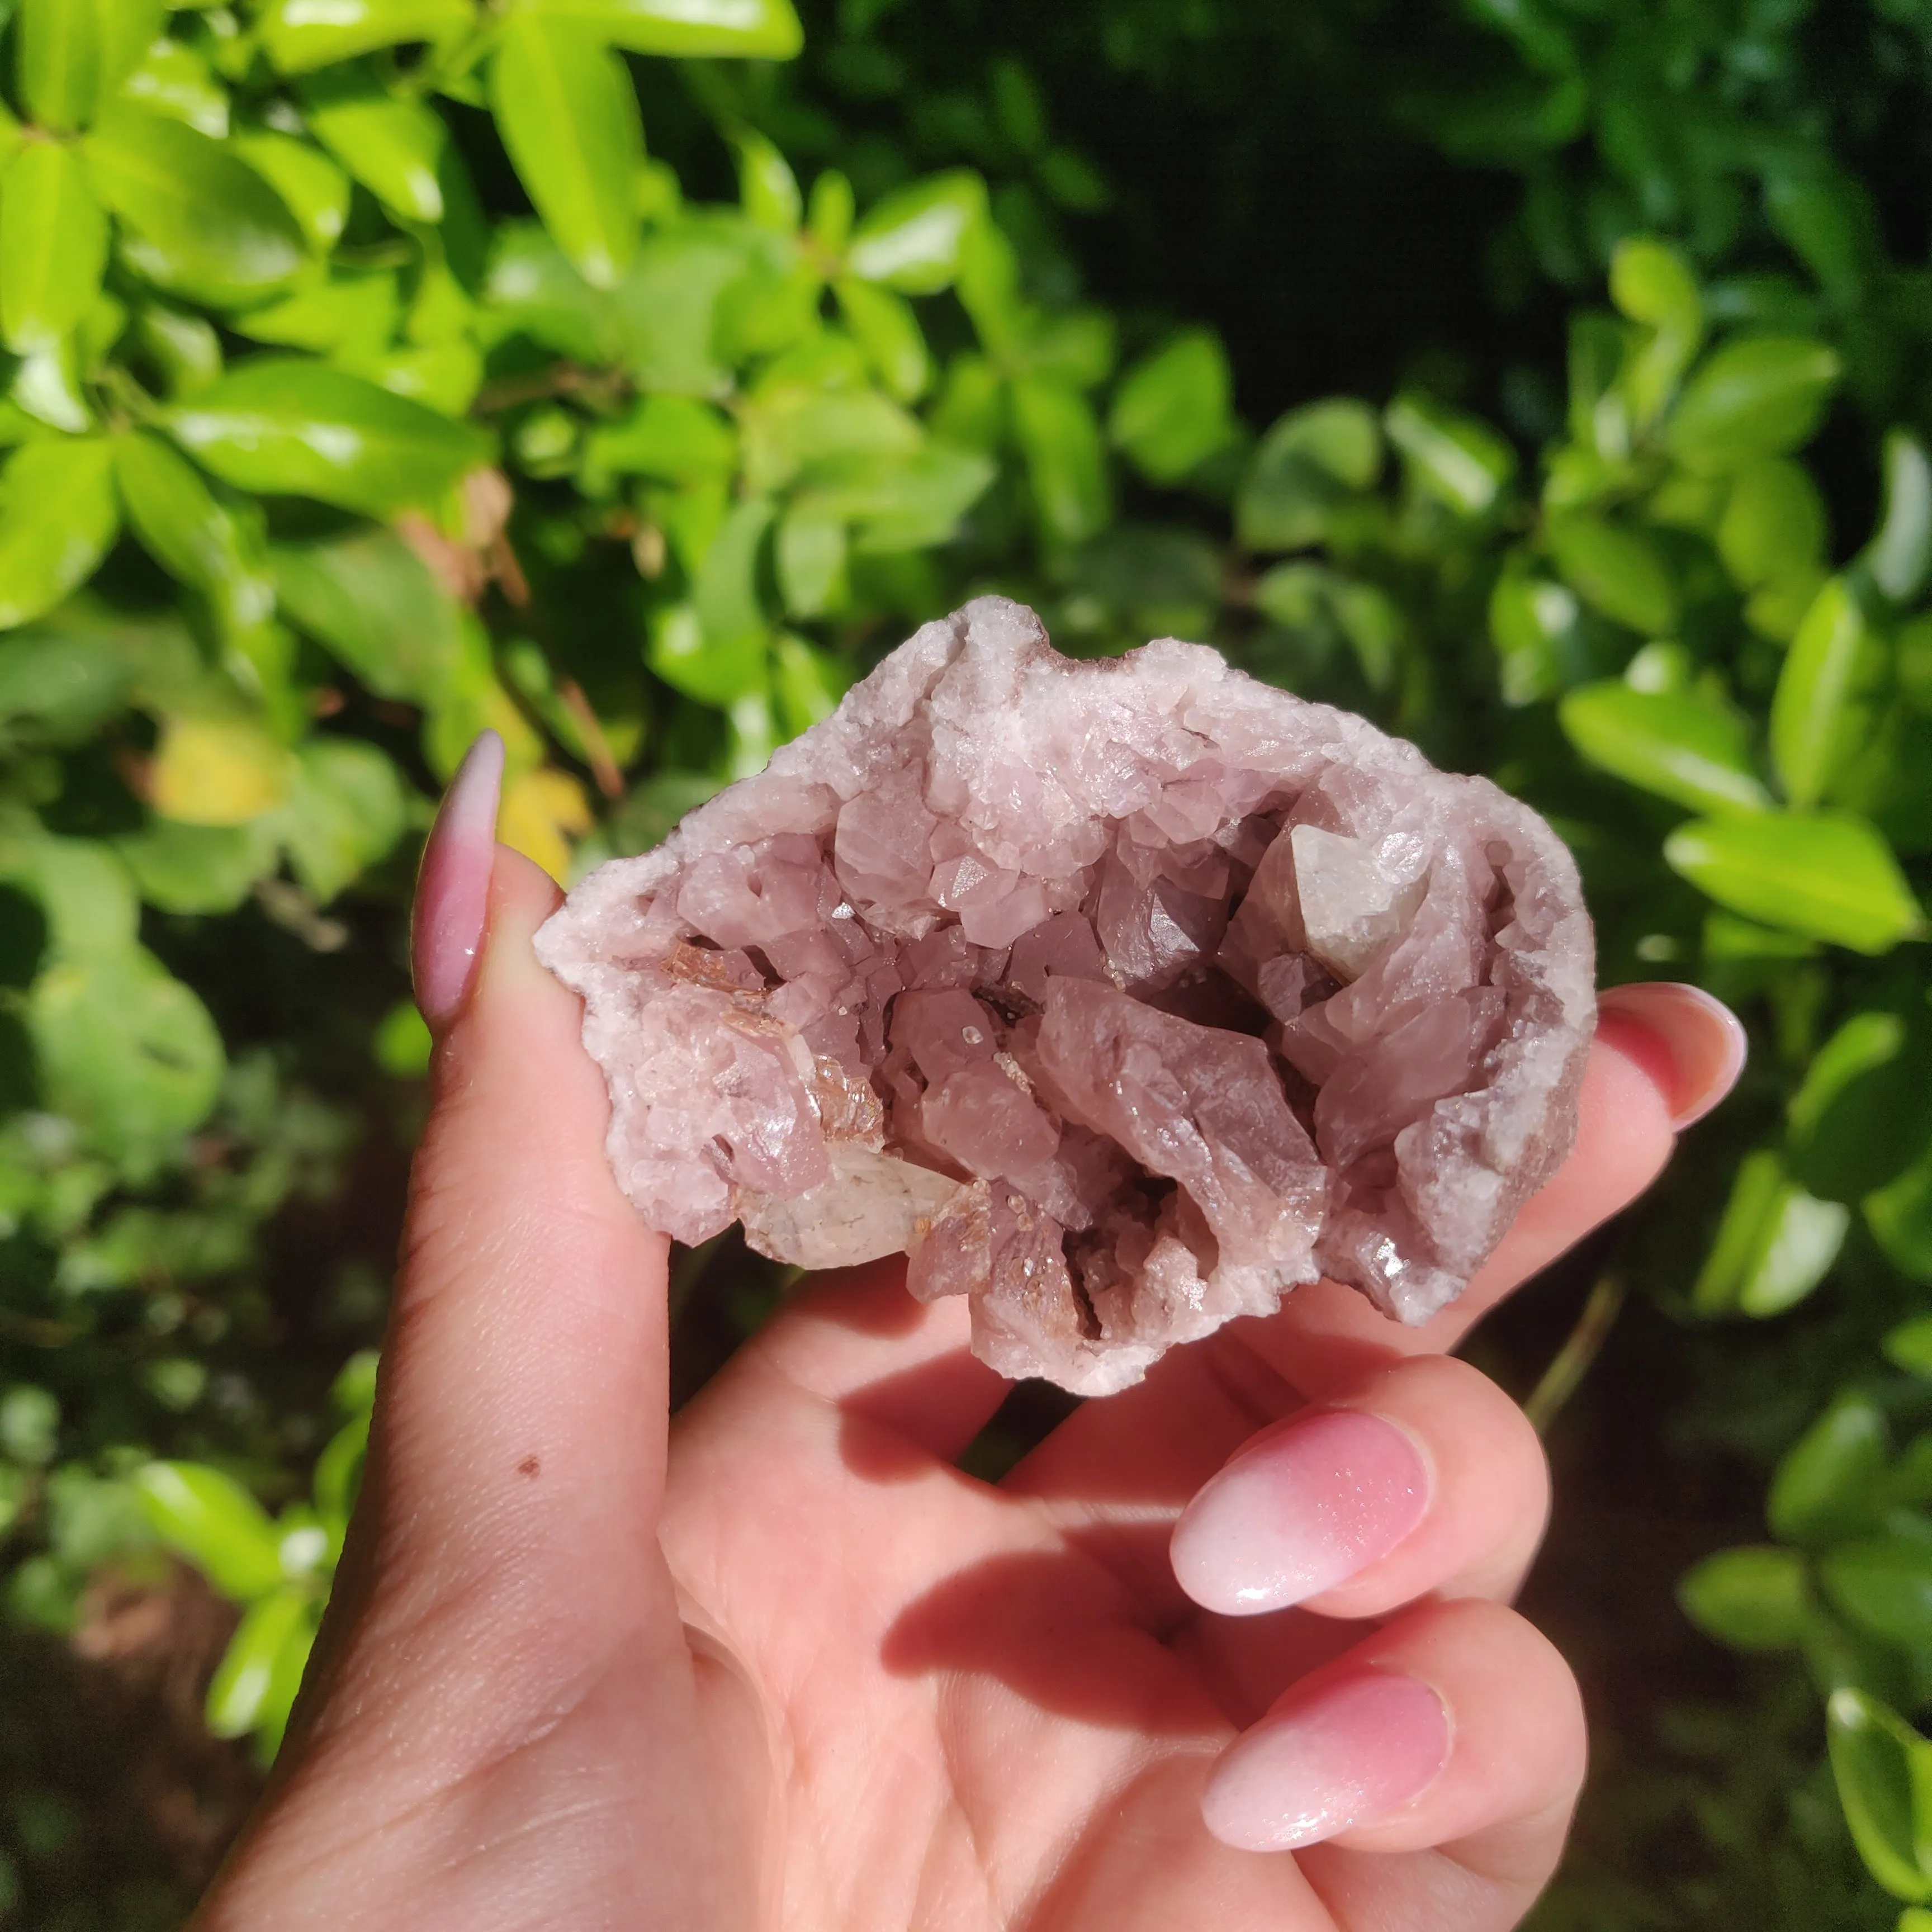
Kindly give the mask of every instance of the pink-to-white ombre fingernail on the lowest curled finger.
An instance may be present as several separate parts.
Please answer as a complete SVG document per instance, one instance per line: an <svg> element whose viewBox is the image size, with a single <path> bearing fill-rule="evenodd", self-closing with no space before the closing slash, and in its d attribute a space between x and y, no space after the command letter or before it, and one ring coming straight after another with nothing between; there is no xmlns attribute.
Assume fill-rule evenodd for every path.
<svg viewBox="0 0 1932 1932"><path fill-rule="evenodd" d="M1208 1776L1202 1816L1236 1851L1294 1851L1408 1804L1447 1762L1443 1700L1414 1677L1366 1671L1238 1737Z"/></svg>

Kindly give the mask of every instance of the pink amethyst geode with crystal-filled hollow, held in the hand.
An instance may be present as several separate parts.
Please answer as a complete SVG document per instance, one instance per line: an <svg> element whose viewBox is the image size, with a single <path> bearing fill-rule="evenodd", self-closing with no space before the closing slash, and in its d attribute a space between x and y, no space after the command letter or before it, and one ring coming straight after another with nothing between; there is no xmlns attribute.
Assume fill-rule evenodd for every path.
<svg viewBox="0 0 1932 1932"><path fill-rule="evenodd" d="M1084 1395L1331 1275L1422 1321L1569 1151L1590 920L1549 827L1202 645L980 597L591 873L612 1167L678 1240L904 1250Z"/></svg>

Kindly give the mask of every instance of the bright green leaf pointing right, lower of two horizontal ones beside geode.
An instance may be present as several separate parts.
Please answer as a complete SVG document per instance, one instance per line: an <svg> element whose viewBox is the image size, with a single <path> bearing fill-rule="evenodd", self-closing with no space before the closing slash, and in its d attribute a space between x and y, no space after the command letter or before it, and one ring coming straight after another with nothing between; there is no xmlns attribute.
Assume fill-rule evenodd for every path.
<svg viewBox="0 0 1932 1932"><path fill-rule="evenodd" d="M1889 952L1924 925L1891 848L1849 811L1696 819L1663 860L1747 920L1855 952Z"/></svg>

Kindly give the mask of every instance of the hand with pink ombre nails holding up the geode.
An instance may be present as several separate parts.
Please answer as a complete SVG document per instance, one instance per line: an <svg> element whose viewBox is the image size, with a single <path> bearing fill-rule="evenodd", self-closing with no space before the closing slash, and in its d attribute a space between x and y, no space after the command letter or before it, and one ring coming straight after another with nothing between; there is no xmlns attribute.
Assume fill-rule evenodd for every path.
<svg viewBox="0 0 1932 1932"><path fill-rule="evenodd" d="M201 1932L1515 1924L1584 1733L1505 1607L1540 1445L1443 1350L1735 1076L1698 995L1605 1014L1575 1155L1455 1310L1298 1289L991 1488L952 1459L1007 1383L896 1262L667 1420L665 1240L477 771L425 858L437 1103L361 1509Z"/></svg>

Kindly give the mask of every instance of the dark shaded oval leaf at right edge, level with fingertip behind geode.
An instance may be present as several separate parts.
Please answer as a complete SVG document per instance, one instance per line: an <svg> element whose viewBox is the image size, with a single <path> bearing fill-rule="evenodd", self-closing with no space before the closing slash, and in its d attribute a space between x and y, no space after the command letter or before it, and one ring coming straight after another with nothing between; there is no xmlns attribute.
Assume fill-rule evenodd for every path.
<svg viewBox="0 0 1932 1932"><path fill-rule="evenodd" d="M1857 1202L1932 1140L1926 1022L1855 1012L1812 1055L1787 1105L1791 1169L1814 1194Z"/></svg>

